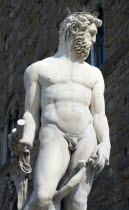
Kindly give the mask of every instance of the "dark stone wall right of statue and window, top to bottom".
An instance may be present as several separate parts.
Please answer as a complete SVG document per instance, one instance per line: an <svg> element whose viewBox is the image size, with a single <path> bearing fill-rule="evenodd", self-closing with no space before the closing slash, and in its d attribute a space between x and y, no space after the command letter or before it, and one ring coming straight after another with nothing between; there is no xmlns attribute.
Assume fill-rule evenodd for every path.
<svg viewBox="0 0 129 210"><path fill-rule="evenodd" d="M89 1L91 4L91 1ZM95 177L88 210L129 209L129 2L103 1L106 114L111 136L110 165ZM92 5L89 6L91 9Z"/></svg>

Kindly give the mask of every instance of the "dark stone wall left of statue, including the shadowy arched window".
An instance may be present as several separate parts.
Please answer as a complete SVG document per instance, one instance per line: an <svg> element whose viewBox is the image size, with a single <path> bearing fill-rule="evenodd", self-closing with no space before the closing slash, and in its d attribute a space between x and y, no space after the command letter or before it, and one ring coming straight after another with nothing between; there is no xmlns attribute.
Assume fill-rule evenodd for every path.
<svg viewBox="0 0 129 210"><path fill-rule="evenodd" d="M55 53L58 46L59 24L65 17L67 7L72 11L77 11L81 4L75 0L0 1L1 210L16 208L17 169L12 164L11 158L7 160L7 133L10 120L14 118L16 120L16 111L18 110L18 118L21 118L24 112L23 73L31 63ZM32 166L37 155L36 151L38 151L37 141L33 150ZM32 187L30 177L30 192Z"/></svg>

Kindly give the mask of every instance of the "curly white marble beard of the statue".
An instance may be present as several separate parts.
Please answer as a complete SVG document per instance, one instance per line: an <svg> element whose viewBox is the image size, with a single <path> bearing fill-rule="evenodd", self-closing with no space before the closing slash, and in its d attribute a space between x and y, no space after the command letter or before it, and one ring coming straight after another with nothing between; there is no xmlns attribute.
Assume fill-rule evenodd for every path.
<svg viewBox="0 0 129 210"><path fill-rule="evenodd" d="M74 36L74 48L77 56L81 60L86 60L89 56L92 42L84 36L84 32L77 32Z"/></svg>

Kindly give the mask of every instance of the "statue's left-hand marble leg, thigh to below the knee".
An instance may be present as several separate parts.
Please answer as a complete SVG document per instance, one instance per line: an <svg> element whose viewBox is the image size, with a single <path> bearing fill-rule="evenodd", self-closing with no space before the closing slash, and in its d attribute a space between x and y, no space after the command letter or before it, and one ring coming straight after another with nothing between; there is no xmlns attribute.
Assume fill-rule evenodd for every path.
<svg viewBox="0 0 129 210"><path fill-rule="evenodd" d="M34 191L24 210L46 210L70 160L68 144L57 129L40 131L40 150L34 174Z"/></svg>

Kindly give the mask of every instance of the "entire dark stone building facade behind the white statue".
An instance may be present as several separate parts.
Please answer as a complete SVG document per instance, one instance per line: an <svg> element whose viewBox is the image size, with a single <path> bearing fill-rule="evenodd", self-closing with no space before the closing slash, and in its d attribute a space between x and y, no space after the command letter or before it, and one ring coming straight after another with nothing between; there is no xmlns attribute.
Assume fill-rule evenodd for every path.
<svg viewBox="0 0 129 210"><path fill-rule="evenodd" d="M129 209L129 1L0 1L0 209L16 210L16 165L7 135L24 112L23 73L28 65L53 55L65 9L104 18L99 63L105 79L106 114L111 136L110 165L95 177L88 210ZM94 54L94 51L92 52ZM92 55L91 55L92 56ZM92 60L92 59L91 59ZM101 64L101 65L100 65ZM34 145L38 151L38 141ZM36 159L37 153L32 155ZM34 167L34 161L32 161ZM32 175L33 177L33 175ZM29 191L33 179L29 180Z"/></svg>

